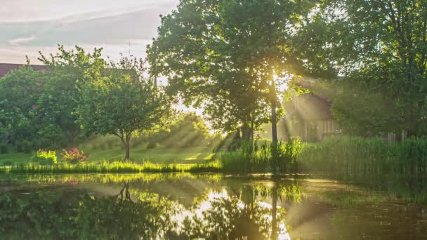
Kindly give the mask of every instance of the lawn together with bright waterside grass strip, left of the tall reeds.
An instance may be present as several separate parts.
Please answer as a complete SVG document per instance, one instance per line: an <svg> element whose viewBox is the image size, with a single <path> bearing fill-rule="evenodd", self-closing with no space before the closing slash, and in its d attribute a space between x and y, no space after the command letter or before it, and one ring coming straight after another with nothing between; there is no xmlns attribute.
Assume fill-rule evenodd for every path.
<svg viewBox="0 0 427 240"><path fill-rule="evenodd" d="M131 147L131 161L124 162L124 148L116 138L94 137L77 146L89 154L84 164L66 164L57 151L58 164L32 163L35 153L0 154L0 173L169 173L218 172L221 165L213 159L213 147L147 149L138 139Z"/></svg>

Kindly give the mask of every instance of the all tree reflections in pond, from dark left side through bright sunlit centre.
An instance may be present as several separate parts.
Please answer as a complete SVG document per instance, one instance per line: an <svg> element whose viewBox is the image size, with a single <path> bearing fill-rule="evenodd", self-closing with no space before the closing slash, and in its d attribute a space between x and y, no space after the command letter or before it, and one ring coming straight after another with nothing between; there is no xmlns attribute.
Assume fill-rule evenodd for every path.
<svg viewBox="0 0 427 240"><path fill-rule="evenodd" d="M227 182L185 210L178 201L138 192L96 196L74 187L0 195L0 236L7 239L289 239L284 197L301 199L296 182ZM271 204L270 204L271 203Z"/></svg>

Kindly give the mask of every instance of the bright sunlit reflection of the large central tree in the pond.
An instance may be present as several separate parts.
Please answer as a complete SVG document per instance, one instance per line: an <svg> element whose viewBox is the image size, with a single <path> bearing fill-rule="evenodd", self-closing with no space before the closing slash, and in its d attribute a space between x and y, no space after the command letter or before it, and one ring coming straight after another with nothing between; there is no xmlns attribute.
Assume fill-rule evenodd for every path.
<svg viewBox="0 0 427 240"><path fill-rule="evenodd" d="M277 206L277 201L282 197L299 201L301 194L296 183L289 187L277 182L271 187L240 185L228 191L210 192L198 209L183 220L182 238L290 239L284 224L284 208Z"/></svg>

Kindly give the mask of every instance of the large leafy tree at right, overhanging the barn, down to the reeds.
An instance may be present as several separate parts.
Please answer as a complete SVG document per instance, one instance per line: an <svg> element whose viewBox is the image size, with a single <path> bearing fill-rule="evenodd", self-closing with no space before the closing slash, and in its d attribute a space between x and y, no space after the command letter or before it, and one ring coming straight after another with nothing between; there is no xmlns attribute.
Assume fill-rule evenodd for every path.
<svg viewBox="0 0 427 240"><path fill-rule="evenodd" d="M313 26L319 26L317 32L324 37L306 44L306 53L316 52L324 66L343 76L333 81L333 111L344 130L357 135L401 130L425 135L427 2L324 1L318 10L306 29L313 33ZM308 63L314 60L306 58Z"/></svg>

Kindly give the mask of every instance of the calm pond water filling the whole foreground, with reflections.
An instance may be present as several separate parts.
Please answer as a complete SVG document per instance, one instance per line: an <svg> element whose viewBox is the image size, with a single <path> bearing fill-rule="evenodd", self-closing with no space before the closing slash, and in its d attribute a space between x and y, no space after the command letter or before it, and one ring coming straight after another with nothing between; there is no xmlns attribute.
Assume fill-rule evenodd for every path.
<svg viewBox="0 0 427 240"><path fill-rule="evenodd" d="M427 239L427 182L419 178L0 179L1 239Z"/></svg>

